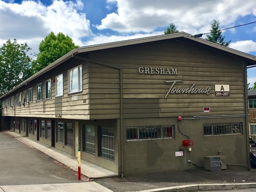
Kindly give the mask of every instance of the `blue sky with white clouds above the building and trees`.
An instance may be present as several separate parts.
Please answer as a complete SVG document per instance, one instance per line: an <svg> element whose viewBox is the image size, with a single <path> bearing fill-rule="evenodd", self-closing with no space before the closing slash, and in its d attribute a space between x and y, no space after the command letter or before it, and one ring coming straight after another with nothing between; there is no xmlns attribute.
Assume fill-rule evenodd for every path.
<svg viewBox="0 0 256 192"><path fill-rule="evenodd" d="M256 21L256 0L0 0L0 46L14 38L32 52L51 31L79 46L163 34L170 23L189 34ZM256 56L256 23L222 30L230 48ZM202 38L206 36L203 35ZM256 67L247 69L249 86Z"/></svg>

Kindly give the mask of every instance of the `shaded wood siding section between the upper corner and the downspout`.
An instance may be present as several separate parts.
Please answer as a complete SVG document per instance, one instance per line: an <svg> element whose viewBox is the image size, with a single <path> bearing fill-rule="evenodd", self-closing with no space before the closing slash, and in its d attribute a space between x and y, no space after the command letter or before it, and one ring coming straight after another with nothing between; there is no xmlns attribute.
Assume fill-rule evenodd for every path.
<svg viewBox="0 0 256 192"><path fill-rule="evenodd" d="M120 70L90 63L88 85L90 118L120 118Z"/></svg>

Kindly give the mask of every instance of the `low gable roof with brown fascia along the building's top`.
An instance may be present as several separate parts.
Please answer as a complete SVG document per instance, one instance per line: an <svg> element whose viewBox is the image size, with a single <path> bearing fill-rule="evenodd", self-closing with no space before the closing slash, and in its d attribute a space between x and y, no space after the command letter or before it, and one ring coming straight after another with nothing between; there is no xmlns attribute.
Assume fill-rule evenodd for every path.
<svg viewBox="0 0 256 192"><path fill-rule="evenodd" d="M165 40L165 39L174 39L174 38L176 38L177 40L180 40L180 41L190 42L190 43L194 43L197 45L205 46L212 50L217 50L217 51L229 54L231 56L238 57L238 58L246 61L246 63L244 63L244 64L246 64L247 67L248 66L253 66L253 67L256 66L256 62L254 62L256 60L256 56L253 56L253 55L250 55L250 54L247 54L247 53L244 53L244 52L241 52L241 51L229 48L229 47L221 46L219 44L207 41L203 38L193 37L193 35L185 33L185 32L177 32L177 33L172 33L172 34L162 34L162 35L157 35L157 36L149 36L149 37L143 37L143 38L129 39L129 40L95 44L95 45L82 46L82 47L75 48L75 49L71 50L70 52L66 53L65 55L63 55L62 57L60 57L59 59L55 60L48 66L44 67L37 73L33 74L29 78L25 79L22 83L18 84L13 89L11 89L8 92L6 92L5 94L3 94L0 97L0 99L2 97L4 97L5 95L13 92L17 88L23 86L25 83L33 80L34 78L40 76L41 74L56 67L57 65L64 62L65 60L67 60L71 57L75 57L76 54L79 55L79 53L84 53L84 52L93 51L93 50L101 50L101 49L107 49L107 48L113 48L113 47L121 47L121 46L127 46L127 45L132 45L132 44L153 42L153 41Z"/></svg>

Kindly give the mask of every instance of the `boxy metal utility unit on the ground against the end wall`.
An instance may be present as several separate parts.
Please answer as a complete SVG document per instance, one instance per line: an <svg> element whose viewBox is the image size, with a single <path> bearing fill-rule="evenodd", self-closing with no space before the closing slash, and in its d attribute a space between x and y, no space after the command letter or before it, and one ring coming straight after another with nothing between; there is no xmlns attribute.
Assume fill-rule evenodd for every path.
<svg viewBox="0 0 256 192"><path fill-rule="evenodd" d="M204 156L204 169L210 171L226 169L226 156Z"/></svg>

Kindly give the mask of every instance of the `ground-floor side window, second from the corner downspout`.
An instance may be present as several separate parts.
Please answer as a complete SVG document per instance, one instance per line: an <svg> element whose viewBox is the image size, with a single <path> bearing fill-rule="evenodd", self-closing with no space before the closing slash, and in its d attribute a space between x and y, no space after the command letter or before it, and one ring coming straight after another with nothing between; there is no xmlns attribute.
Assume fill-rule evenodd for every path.
<svg viewBox="0 0 256 192"><path fill-rule="evenodd" d="M95 154L95 127L94 125L82 125L82 149L83 151Z"/></svg>

